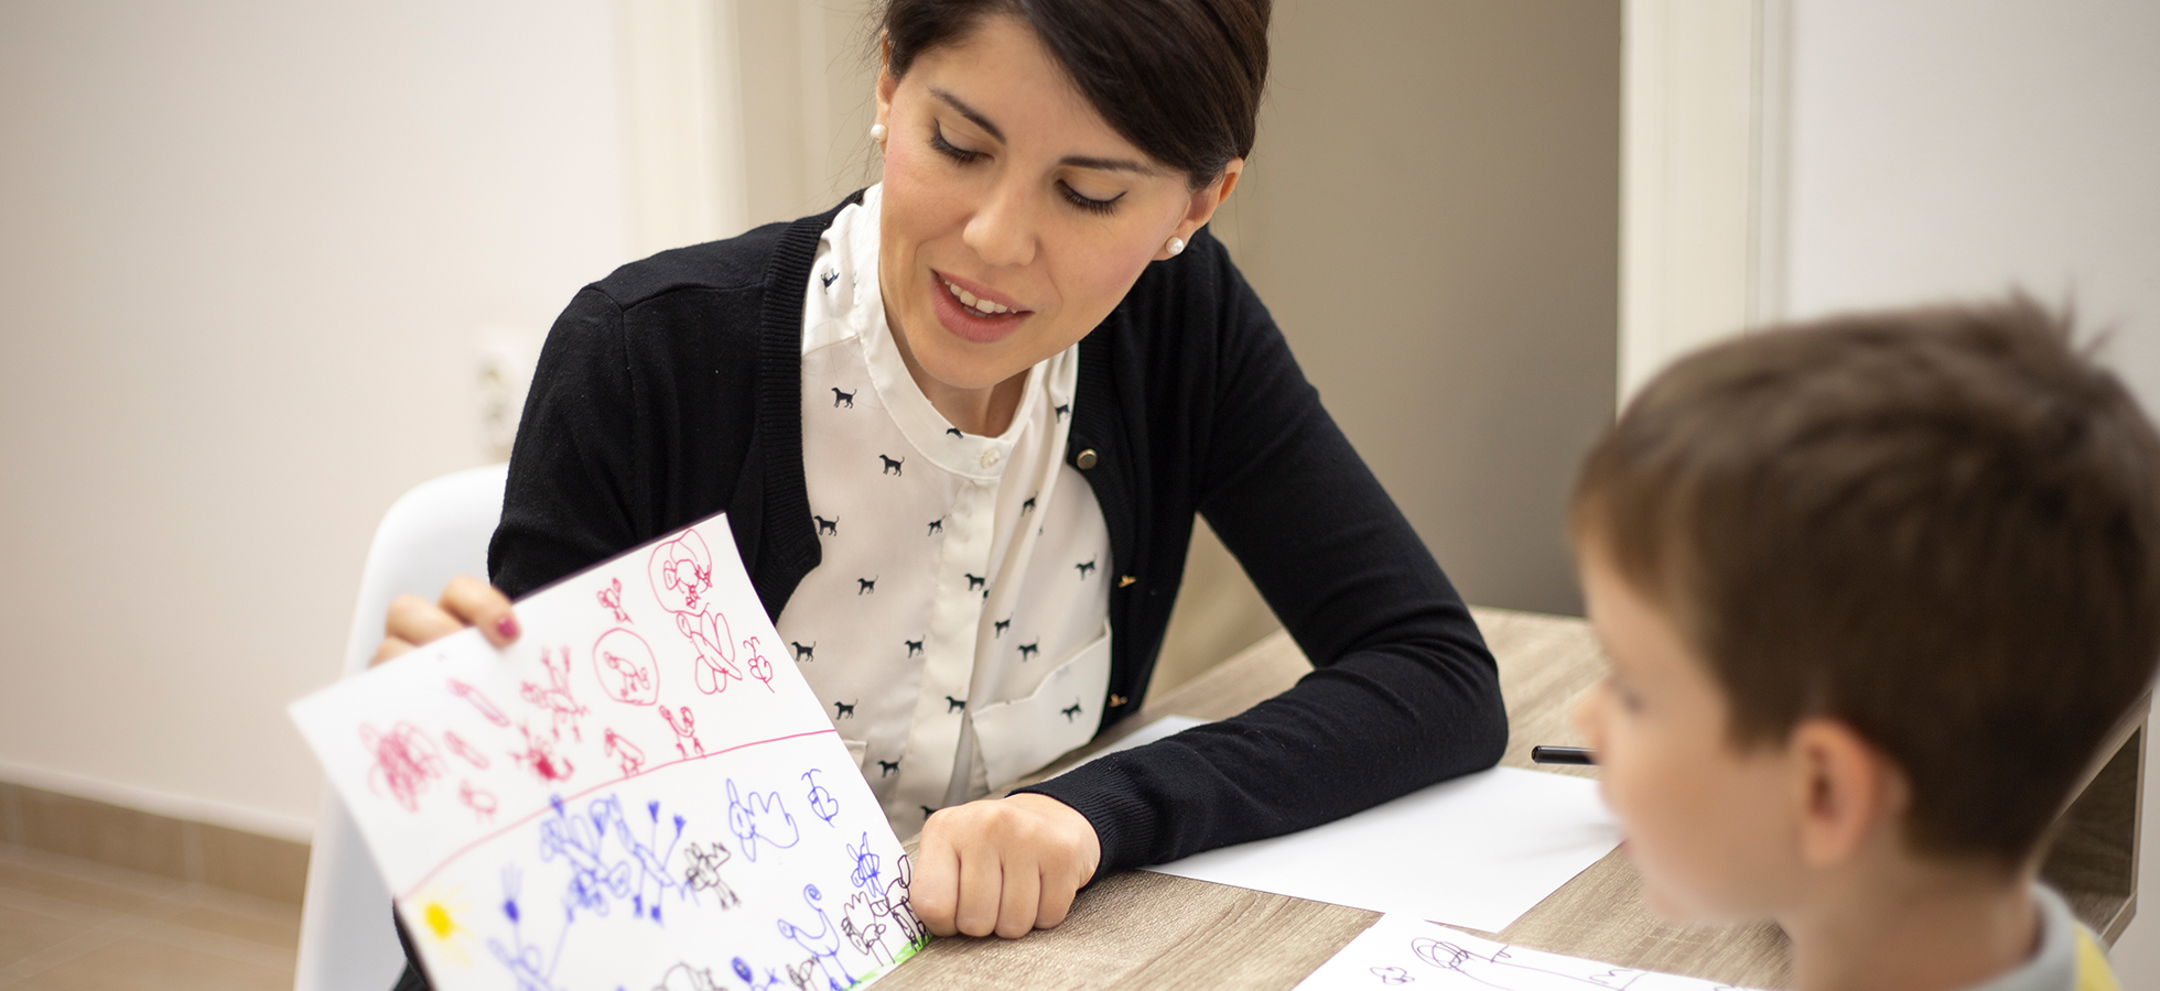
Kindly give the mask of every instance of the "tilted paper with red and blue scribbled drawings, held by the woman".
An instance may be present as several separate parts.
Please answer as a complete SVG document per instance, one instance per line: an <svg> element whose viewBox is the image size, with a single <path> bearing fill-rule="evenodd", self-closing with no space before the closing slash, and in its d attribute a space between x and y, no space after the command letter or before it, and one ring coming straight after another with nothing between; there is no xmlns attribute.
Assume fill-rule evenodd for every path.
<svg viewBox="0 0 2160 991"><path fill-rule="evenodd" d="M847 989L922 944L724 516L292 704L441 991Z"/></svg>

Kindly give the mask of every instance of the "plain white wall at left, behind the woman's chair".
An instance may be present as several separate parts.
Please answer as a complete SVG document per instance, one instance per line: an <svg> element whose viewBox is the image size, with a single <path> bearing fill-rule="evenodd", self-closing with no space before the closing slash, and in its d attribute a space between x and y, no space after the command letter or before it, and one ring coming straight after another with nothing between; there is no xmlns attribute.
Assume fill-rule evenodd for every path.
<svg viewBox="0 0 2160 991"><path fill-rule="evenodd" d="M305 838L475 332L624 255L609 9L0 4L0 777Z"/></svg>

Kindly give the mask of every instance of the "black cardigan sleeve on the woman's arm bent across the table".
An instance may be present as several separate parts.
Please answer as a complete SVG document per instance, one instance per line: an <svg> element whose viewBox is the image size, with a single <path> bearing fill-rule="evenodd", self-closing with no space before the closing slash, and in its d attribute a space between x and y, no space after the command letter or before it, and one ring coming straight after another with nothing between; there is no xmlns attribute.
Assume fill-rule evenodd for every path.
<svg viewBox="0 0 2160 991"><path fill-rule="evenodd" d="M1177 294L1179 317L1214 330L1194 335L1214 341L1194 358L1212 374L1182 376L1201 386L1179 415L1207 425L1182 453L1197 507L1315 669L1244 715L1024 788L1095 825L1097 877L1328 823L1486 769L1508 743L1462 598L1207 246L1203 285Z"/></svg>

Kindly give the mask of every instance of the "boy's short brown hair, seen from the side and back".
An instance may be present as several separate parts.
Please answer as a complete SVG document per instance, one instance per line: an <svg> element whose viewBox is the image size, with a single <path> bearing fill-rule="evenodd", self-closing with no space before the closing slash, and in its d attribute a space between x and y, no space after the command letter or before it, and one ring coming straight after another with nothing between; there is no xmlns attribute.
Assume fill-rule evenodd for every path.
<svg viewBox="0 0 2160 991"><path fill-rule="evenodd" d="M1570 529L1709 659L1737 745L1845 721L1920 853L2017 866L2160 659L2160 438L2026 296L1696 352Z"/></svg>

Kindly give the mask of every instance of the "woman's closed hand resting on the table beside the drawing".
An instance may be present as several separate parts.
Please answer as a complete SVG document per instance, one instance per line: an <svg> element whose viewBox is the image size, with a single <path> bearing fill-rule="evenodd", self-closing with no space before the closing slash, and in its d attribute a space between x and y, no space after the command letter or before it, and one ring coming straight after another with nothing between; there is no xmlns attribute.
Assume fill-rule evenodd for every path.
<svg viewBox="0 0 2160 991"><path fill-rule="evenodd" d="M1065 922L1099 861L1095 825L1058 799L970 801L922 823L907 900L935 935L1015 939Z"/></svg>

